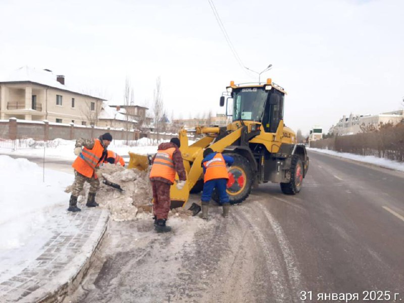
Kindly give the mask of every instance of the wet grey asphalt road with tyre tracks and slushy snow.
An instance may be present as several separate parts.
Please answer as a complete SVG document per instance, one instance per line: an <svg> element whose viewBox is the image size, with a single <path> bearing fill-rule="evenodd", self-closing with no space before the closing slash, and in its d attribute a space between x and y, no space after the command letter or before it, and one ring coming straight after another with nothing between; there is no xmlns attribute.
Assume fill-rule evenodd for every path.
<svg viewBox="0 0 404 303"><path fill-rule="evenodd" d="M309 156L299 194L264 184L228 219L212 207L165 235L151 220L112 222L71 301L404 301L404 174Z"/></svg>

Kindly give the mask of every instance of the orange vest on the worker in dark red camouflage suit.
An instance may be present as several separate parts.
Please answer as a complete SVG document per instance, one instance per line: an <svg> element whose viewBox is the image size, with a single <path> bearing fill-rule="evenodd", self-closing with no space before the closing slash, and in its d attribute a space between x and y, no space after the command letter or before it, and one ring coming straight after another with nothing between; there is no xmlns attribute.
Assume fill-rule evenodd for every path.
<svg viewBox="0 0 404 303"><path fill-rule="evenodd" d="M175 149L175 147L170 147L157 151L153 166L151 166L150 179L154 177L161 177L174 183L175 167L173 154Z"/></svg>

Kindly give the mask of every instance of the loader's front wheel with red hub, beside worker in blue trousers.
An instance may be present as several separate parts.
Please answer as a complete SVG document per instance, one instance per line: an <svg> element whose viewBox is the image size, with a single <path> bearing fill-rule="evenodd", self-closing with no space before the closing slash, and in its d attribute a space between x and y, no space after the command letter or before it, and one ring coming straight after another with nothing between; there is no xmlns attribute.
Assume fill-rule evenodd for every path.
<svg viewBox="0 0 404 303"><path fill-rule="evenodd" d="M249 161L238 154L226 154L233 157L234 163L229 169L229 181L227 182L227 194L230 204L238 204L244 201L251 192L254 173ZM213 199L219 203L219 194L215 190Z"/></svg>

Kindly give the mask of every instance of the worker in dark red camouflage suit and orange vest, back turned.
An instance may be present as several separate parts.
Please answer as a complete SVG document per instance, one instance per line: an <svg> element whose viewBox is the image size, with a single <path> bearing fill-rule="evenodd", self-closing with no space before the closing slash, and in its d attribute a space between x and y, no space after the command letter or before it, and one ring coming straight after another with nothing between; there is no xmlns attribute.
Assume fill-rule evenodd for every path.
<svg viewBox="0 0 404 303"><path fill-rule="evenodd" d="M171 231L166 226L168 212L170 211L170 187L174 184L175 172L179 181L176 186L182 189L185 185L186 173L181 156L180 140L172 138L170 142L161 143L154 156L150 170L150 181L153 189L153 212L155 215L155 229L157 232Z"/></svg>

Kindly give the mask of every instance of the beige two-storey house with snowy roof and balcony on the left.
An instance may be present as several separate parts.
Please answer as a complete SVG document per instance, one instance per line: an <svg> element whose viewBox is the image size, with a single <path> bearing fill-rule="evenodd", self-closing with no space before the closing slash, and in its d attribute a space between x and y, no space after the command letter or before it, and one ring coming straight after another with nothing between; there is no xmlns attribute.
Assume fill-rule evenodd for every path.
<svg viewBox="0 0 404 303"><path fill-rule="evenodd" d="M47 120L97 126L102 98L65 85L63 75L22 67L0 79L0 119Z"/></svg>

